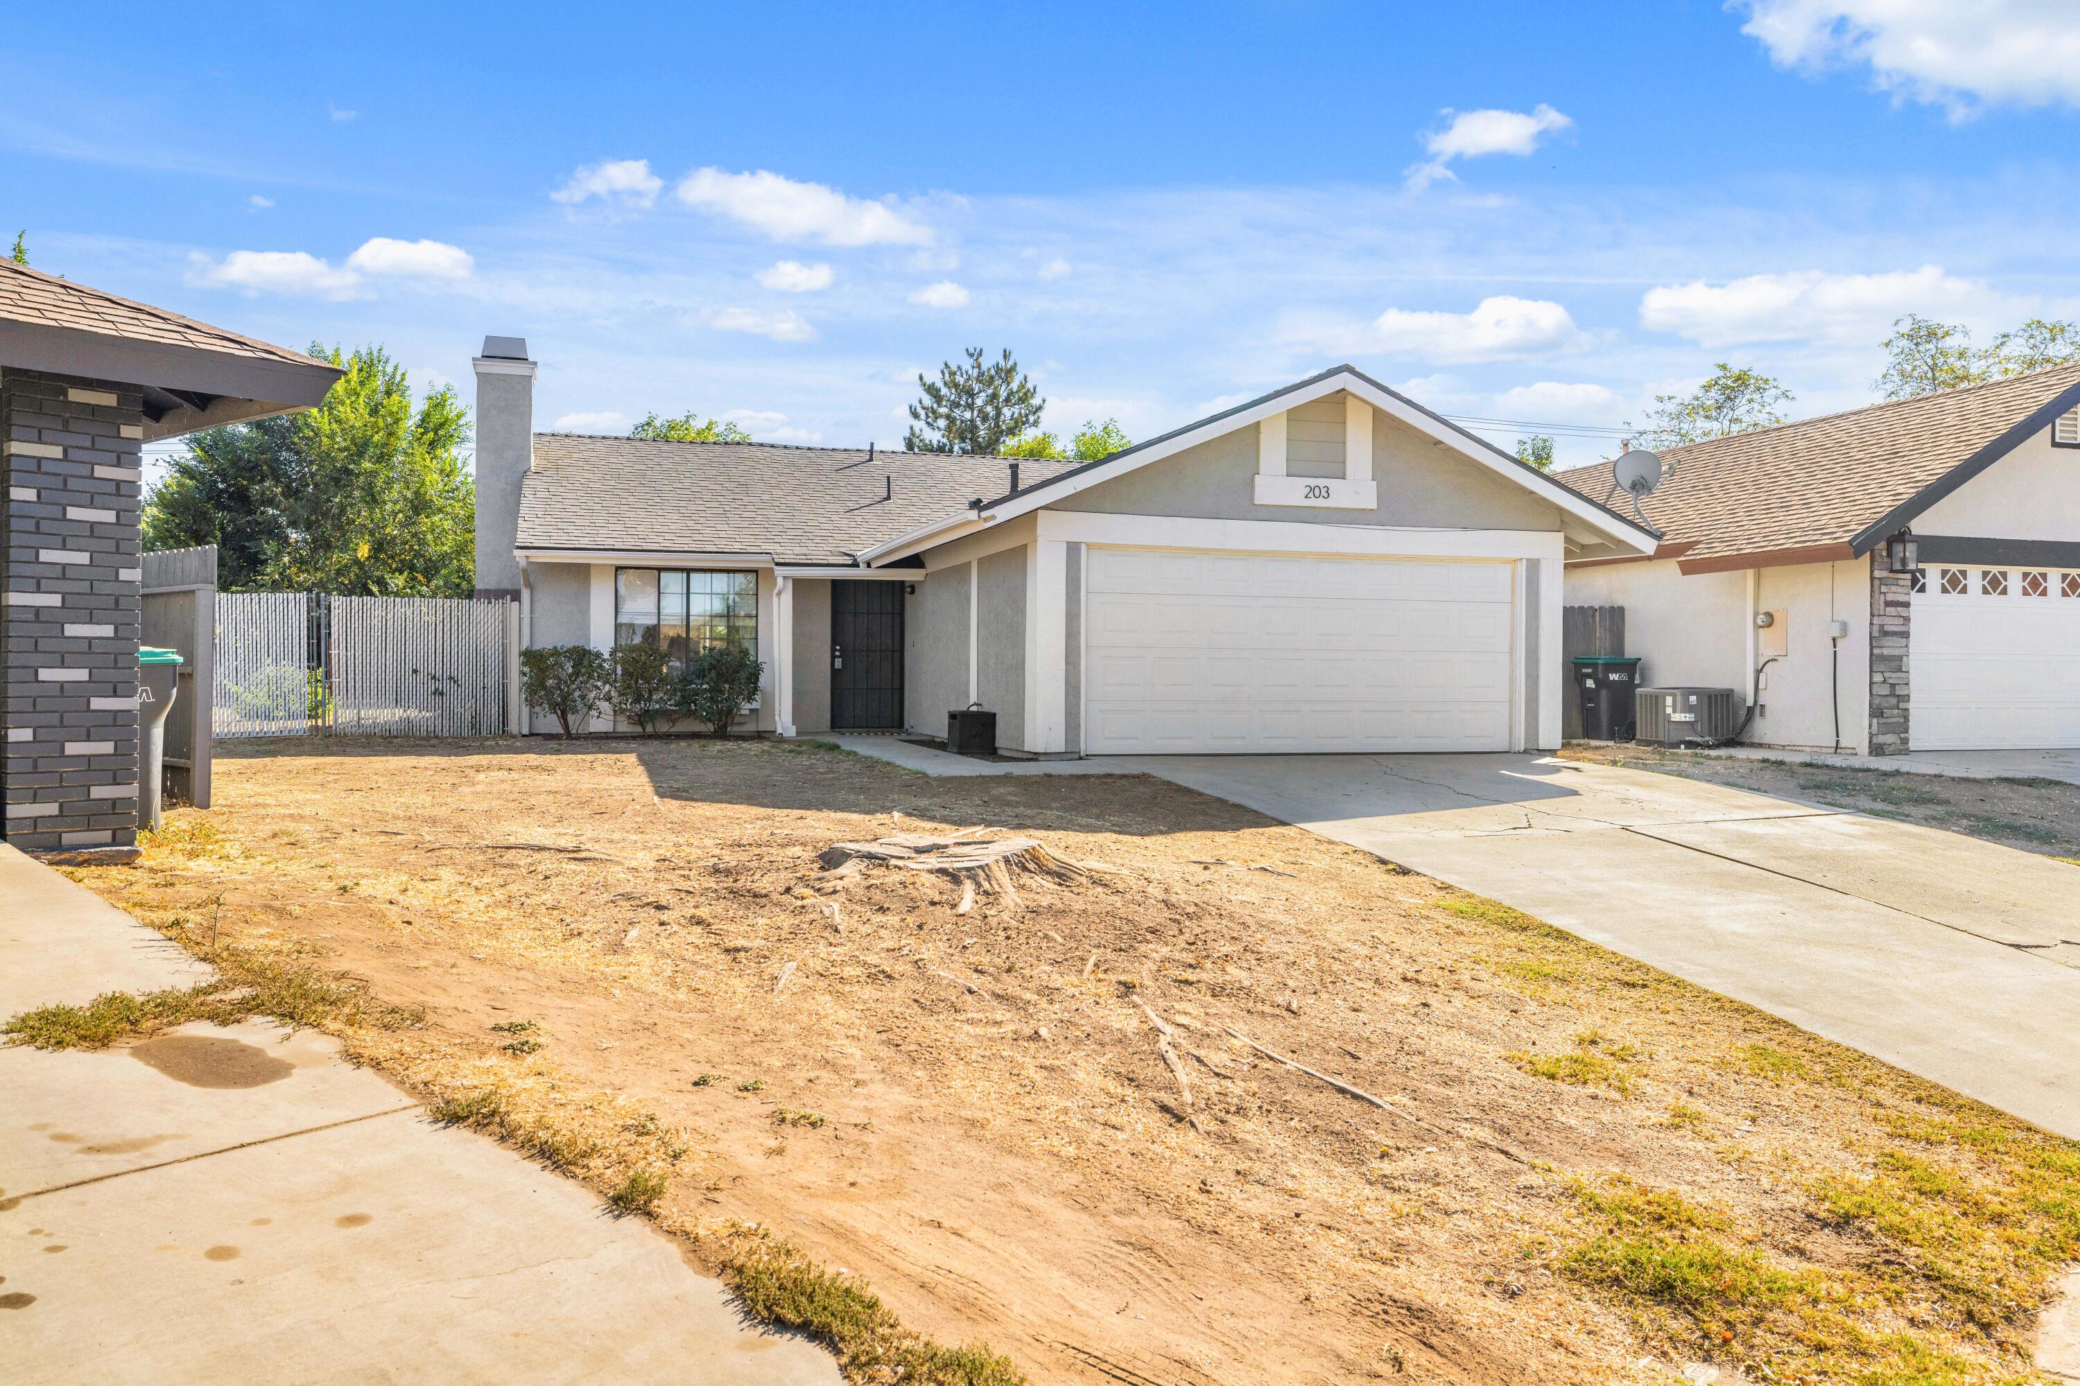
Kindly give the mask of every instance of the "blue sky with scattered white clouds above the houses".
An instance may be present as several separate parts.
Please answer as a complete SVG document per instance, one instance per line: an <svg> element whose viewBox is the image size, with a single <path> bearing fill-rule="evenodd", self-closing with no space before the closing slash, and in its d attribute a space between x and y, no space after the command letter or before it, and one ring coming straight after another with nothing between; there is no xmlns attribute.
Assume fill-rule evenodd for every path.
<svg viewBox="0 0 2080 1386"><path fill-rule="evenodd" d="M466 393L524 335L537 426L830 445L969 345L1059 430L1342 359L1618 428L1720 359L1866 403L1903 312L2080 316L2068 0L659 10L104 4L92 87L12 15L0 222Z"/></svg>

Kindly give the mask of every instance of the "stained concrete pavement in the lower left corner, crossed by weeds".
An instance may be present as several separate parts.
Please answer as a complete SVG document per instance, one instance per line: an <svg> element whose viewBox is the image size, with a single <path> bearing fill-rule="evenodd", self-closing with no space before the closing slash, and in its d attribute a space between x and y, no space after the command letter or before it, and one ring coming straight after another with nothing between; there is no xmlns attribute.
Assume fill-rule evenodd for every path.
<svg viewBox="0 0 2080 1386"><path fill-rule="evenodd" d="M6 846L0 900L8 1014L206 975ZM266 1020L0 1049L0 1276L10 1386L838 1382L641 1218Z"/></svg>

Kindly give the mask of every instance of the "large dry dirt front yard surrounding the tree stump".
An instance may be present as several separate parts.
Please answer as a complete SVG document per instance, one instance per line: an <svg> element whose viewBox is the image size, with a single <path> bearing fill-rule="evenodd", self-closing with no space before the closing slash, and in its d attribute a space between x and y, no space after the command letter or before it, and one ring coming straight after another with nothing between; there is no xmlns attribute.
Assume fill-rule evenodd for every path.
<svg viewBox="0 0 2080 1386"><path fill-rule="evenodd" d="M216 798L73 875L366 979L410 1020L352 1054L697 1257L761 1224L1036 1382L2032 1380L2080 1247L2074 1145L1165 781L270 744ZM1102 871L820 881L976 825Z"/></svg>

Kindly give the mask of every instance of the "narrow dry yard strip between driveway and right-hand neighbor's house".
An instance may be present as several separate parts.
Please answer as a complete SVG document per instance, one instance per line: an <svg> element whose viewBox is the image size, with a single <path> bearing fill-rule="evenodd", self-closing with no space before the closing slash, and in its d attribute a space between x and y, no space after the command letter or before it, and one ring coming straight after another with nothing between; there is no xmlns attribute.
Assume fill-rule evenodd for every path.
<svg viewBox="0 0 2080 1386"><path fill-rule="evenodd" d="M1909 775L1845 765L1699 756L1658 746L1575 744L1568 761L1631 765L1633 769L1706 779L1710 783L1780 794L1830 808L1853 808L1878 819L1941 827L1984 837L2040 856L2080 858L2080 785L2063 779L1966 779L1961 775Z"/></svg>

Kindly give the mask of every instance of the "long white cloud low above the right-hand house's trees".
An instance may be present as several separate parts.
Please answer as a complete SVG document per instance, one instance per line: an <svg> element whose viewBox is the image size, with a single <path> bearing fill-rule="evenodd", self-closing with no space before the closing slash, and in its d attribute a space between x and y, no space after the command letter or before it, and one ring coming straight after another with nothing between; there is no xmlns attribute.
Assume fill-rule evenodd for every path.
<svg viewBox="0 0 2080 1386"><path fill-rule="evenodd" d="M1639 299L1639 324L1699 347L1814 339L1876 345L1901 314L1982 318L1995 303L1986 285L1945 274L1934 264L1889 274L1801 270L1647 289Z"/></svg>

